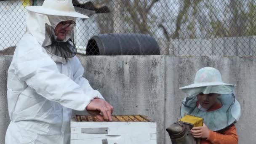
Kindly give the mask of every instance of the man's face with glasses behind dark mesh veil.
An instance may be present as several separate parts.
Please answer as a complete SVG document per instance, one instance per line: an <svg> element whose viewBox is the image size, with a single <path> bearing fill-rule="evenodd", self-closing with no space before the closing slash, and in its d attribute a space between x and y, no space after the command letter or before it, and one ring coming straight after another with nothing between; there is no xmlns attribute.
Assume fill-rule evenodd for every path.
<svg viewBox="0 0 256 144"><path fill-rule="evenodd" d="M57 36L57 40L65 40L68 32L72 31L75 26L75 22L72 20L61 21L54 29L54 33Z"/></svg>

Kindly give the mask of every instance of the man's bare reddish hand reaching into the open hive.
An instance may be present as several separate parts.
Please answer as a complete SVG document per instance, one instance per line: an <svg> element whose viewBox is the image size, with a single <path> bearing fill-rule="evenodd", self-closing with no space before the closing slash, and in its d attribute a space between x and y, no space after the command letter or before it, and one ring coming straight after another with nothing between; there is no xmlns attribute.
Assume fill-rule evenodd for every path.
<svg viewBox="0 0 256 144"><path fill-rule="evenodd" d="M93 99L85 109L89 114L96 116L101 121L112 121L111 114L114 108L103 99Z"/></svg>

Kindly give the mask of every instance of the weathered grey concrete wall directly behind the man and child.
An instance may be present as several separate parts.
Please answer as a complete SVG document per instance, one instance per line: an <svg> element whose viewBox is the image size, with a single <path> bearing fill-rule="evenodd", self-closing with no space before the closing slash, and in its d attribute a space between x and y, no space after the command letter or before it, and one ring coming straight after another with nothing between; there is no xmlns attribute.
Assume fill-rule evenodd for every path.
<svg viewBox="0 0 256 144"><path fill-rule="evenodd" d="M148 115L157 122L157 144L171 144L165 128L179 117L185 93L202 67L216 67L226 83L236 84L242 115L237 125L240 144L256 143L256 59L253 57L86 56L80 57L85 77L115 108L114 114ZM0 140L6 129L6 70L11 57L0 57ZM4 123L4 124L3 124ZM2 137L1 137L2 136ZM0 144L3 144L3 142Z"/></svg>

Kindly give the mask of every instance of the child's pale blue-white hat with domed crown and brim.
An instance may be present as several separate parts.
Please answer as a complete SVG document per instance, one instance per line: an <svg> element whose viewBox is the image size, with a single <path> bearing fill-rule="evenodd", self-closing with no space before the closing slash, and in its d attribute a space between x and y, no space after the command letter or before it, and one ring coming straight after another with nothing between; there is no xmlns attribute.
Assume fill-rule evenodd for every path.
<svg viewBox="0 0 256 144"><path fill-rule="evenodd" d="M181 87L180 89L198 88L213 85L235 86L232 84L223 83L221 73L219 72L218 69L215 69L213 67L204 67L197 71L195 75L195 81L193 84Z"/></svg>

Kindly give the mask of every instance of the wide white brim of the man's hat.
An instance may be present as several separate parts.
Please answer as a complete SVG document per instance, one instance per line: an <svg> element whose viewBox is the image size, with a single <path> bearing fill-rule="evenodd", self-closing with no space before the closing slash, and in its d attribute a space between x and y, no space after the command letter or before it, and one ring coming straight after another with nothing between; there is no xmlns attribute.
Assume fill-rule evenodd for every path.
<svg viewBox="0 0 256 144"><path fill-rule="evenodd" d="M51 15L51 16L70 16L75 18L82 18L88 19L89 17L77 12L63 12L63 11L56 11L47 8L43 8L42 6L28 6L26 7L28 11L32 11L35 13Z"/></svg>

